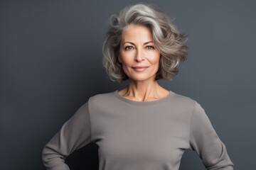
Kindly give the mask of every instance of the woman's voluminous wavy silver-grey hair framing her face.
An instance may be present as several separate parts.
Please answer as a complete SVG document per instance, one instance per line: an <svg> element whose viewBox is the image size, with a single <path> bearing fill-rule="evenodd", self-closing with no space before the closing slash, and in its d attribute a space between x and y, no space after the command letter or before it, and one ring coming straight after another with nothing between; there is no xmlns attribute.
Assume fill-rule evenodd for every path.
<svg viewBox="0 0 256 170"><path fill-rule="evenodd" d="M179 33L171 19L153 4L127 6L110 18L110 30L103 44L103 66L112 81L122 82L129 77L118 61L122 32L130 24L146 26L151 30L153 42L160 52L156 79L171 79L178 73L178 66L186 60L188 47L186 35Z"/></svg>

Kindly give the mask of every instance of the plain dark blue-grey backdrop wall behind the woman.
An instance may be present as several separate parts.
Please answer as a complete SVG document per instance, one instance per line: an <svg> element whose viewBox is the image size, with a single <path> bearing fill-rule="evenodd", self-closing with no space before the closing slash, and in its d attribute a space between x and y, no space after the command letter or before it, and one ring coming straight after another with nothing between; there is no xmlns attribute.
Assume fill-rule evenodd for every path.
<svg viewBox="0 0 256 170"><path fill-rule="evenodd" d="M0 169L43 169L43 145L95 94L121 89L102 67L112 13L139 1L0 2ZM255 1L147 1L188 34L188 60L166 89L205 108L235 169L255 167ZM97 169L97 147L67 159ZM181 170L203 169L186 151Z"/></svg>

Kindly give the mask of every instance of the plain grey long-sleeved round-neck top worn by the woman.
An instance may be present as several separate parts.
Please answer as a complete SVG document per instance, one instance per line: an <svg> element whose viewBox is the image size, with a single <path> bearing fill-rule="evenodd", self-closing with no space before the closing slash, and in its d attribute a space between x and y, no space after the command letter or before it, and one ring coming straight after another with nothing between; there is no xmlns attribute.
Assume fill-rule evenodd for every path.
<svg viewBox="0 0 256 170"><path fill-rule="evenodd" d="M131 101L114 91L92 96L43 149L46 169L69 169L65 158L90 142L98 145L100 170L178 170L185 149L206 169L233 169L205 111L170 91L159 101Z"/></svg>

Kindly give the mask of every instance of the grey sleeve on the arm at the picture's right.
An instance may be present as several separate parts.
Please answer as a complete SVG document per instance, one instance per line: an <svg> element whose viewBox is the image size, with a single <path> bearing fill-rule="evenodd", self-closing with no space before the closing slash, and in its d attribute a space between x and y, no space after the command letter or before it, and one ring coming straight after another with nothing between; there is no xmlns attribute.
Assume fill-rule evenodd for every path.
<svg viewBox="0 0 256 170"><path fill-rule="evenodd" d="M233 170L227 149L216 134L205 111L196 103L191 118L191 149L195 150L208 170Z"/></svg>

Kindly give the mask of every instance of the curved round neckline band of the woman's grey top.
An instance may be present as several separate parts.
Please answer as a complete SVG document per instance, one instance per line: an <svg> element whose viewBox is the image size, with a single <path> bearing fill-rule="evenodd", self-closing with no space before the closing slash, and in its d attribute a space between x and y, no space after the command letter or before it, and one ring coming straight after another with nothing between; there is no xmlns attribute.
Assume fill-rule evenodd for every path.
<svg viewBox="0 0 256 170"><path fill-rule="evenodd" d="M163 101L168 100L168 98L170 98L174 94L175 94L174 92L169 91L169 94L167 96L165 96L164 98L160 98L159 100L156 100L156 101L132 101L128 98L124 98L123 96L121 96L118 93L118 90L114 91L114 95L117 96L117 98L121 99L124 102L134 104L134 105L138 105L138 106L149 106L149 105L156 104L156 103L162 103Z"/></svg>

